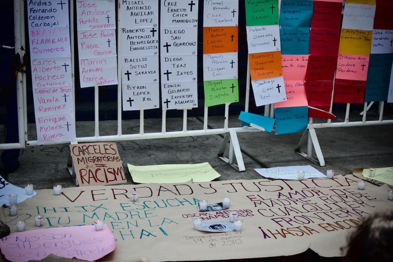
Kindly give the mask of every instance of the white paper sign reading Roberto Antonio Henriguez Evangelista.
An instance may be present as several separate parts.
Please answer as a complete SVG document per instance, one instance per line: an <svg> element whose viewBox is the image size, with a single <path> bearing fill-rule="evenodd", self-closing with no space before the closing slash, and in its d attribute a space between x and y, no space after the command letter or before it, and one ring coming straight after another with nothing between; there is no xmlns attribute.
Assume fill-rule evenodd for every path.
<svg viewBox="0 0 393 262"><path fill-rule="evenodd" d="M158 55L158 28L122 28L122 56Z"/></svg>

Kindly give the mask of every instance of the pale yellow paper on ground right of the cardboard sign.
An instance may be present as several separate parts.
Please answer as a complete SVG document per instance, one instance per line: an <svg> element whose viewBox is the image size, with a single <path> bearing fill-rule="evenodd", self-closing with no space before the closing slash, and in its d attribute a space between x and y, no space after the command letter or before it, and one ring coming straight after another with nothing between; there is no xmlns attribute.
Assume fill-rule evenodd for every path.
<svg viewBox="0 0 393 262"><path fill-rule="evenodd" d="M135 183L183 183L191 179L194 182L207 182L221 176L208 162L153 166L127 164L127 166Z"/></svg>

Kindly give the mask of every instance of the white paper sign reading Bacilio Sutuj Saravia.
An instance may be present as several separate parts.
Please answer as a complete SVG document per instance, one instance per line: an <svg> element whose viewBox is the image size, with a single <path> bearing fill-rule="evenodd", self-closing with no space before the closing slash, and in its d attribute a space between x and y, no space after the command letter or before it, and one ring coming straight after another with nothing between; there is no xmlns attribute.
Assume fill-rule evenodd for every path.
<svg viewBox="0 0 393 262"><path fill-rule="evenodd" d="M125 83L158 83L158 56L122 57L121 81Z"/></svg>

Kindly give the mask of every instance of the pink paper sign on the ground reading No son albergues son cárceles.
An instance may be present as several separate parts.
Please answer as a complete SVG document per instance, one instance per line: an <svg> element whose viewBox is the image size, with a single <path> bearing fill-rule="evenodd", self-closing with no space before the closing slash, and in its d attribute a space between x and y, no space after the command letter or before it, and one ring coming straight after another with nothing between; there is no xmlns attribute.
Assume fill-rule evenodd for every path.
<svg viewBox="0 0 393 262"><path fill-rule="evenodd" d="M16 232L0 239L0 248L10 261L42 260L50 254L94 261L114 251L116 240L108 226L56 227Z"/></svg>

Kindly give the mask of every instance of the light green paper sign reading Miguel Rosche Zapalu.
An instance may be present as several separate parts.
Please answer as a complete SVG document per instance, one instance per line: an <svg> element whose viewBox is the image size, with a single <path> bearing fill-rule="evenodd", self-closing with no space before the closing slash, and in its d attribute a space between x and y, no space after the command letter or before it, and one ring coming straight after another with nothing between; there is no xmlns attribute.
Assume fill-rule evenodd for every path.
<svg viewBox="0 0 393 262"><path fill-rule="evenodd" d="M239 101L237 79L203 81L203 87L206 107Z"/></svg>

